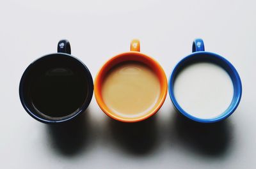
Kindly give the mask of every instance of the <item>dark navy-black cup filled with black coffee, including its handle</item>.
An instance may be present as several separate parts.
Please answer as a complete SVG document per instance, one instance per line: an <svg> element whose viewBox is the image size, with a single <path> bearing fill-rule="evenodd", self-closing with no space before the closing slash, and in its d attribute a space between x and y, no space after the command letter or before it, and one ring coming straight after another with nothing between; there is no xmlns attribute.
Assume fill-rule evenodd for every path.
<svg viewBox="0 0 256 169"><path fill-rule="evenodd" d="M61 40L58 53L40 57L22 75L20 101L26 112L40 122L74 119L92 100L92 75L83 62L70 54L70 43Z"/></svg>

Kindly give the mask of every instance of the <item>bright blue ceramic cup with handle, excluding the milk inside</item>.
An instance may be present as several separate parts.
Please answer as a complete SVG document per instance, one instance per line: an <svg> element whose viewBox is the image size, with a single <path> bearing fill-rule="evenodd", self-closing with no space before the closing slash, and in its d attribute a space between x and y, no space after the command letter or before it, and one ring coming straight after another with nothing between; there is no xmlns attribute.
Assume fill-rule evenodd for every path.
<svg viewBox="0 0 256 169"><path fill-rule="evenodd" d="M170 75L168 89L169 89L170 98L172 99L173 106L178 112L180 112L180 114L196 122L211 123L211 122L222 121L223 119L226 119L227 117L229 117L239 105L241 95L242 95L241 79L236 69L234 68L234 66L229 61L227 61L227 59L225 59L224 57L218 54L204 51L204 41L202 39L196 39L195 41L193 41L192 52L193 52L192 54L184 57L184 59L182 59L177 63L177 65L175 66L175 68L173 69ZM180 73L180 71L186 68L186 66L194 64L196 62L211 62L212 64L216 64L220 66L221 68L223 68L223 70L227 71L228 75L232 80L232 84L234 87L234 94L229 107L225 110L225 112L211 119L201 119L189 114L189 112L186 112L182 107L180 107L179 103L177 102L177 99L175 98L175 94L173 91L173 85L175 83L175 79L177 75Z"/></svg>

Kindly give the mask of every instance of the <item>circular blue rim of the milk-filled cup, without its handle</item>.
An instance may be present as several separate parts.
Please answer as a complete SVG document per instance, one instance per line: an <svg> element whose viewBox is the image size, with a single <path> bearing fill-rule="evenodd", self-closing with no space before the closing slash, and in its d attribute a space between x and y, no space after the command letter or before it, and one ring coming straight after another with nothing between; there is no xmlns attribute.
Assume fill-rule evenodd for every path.
<svg viewBox="0 0 256 169"><path fill-rule="evenodd" d="M177 76L177 73L179 74L179 72L177 72L177 71L179 71L179 69L183 69L182 64L184 64L185 61L188 61L189 59L191 59L191 61L193 61L195 59L196 55L205 55L206 57L209 57L209 56L214 57L215 62L211 62L211 63L221 66L221 68L223 68L223 70L225 70L228 73L229 77L232 80L232 84L233 84L233 88L234 88L233 98L232 98L232 101L231 101L230 105L228 106L228 108L220 115L218 115L216 117L209 118L209 119L203 119L203 118L195 117L195 116L189 114L188 112L183 110L182 107L180 107L179 103L177 102L177 100L174 96L173 84L175 81L175 77ZM188 64L191 64L191 61ZM188 117L189 119L196 121L196 122L212 123L212 122L218 122L218 121L222 121L223 119L226 119L231 114L233 114L233 112L236 110L236 108L238 107L239 102L241 100L241 96L242 96L241 78L239 77L239 74L237 73L236 68L234 68L234 66L227 59L225 59L221 55L218 55L218 54L215 54L212 52L200 51L200 52L193 52L192 54L187 55L186 57L184 57L182 60L180 60L175 65L172 73L170 74L170 78L168 81L169 81L168 82L169 95L170 95L170 98L172 100L172 103L173 103L173 106L175 107L175 109L178 112L180 112L182 115L184 115L184 116Z"/></svg>

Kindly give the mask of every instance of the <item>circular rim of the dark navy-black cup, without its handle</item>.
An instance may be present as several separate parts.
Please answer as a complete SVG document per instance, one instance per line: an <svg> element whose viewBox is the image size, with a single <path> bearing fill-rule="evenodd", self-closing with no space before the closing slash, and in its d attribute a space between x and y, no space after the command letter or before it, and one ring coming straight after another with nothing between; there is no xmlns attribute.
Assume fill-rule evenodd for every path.
<svg viewBox="0 0 256 169"><path fill-rule="evenodd" d="M77 64L81 64L81 68L83 68L84 73L86 73L86 77L88 77L88 97L86 99L86 101L84 101L82 107L79 108L79 110L73 114L73 115L67 115L66 117L60 117L60 119L51 119L51 117L49 119L46 119L44 117L40 117L39 115L35 114L32 110L30 110L30 108L28 107L28 105L26 104L26 101L24 99L24 92L23 92L23 88L24 88L24 81L27 78L28 72L31 70L31 68L35 65L35 63L40 62L44 59L47 59L48 57L54 57L54 56L64 56L64 57L68 57L68 58L72 58L74 61L77 62ZM22 77L20 78L20 84L19 84L19 97L20 97L20 102L22 103L22 107L24 107L24 109L26 110L26 112L33 117L34 119L36 119L37 121L40 122L44 122L44 123L60 123L60 122L66 122L66 121L70 121L71 119L74 119L75 117L77 117L77 115L80 115L81 113L84 112L84 110L86 110L86 108L89 106L91 100L92 100L92 96L93 96L93 78L92 78L92 74L90 73L90 71L88 70L88 68L86 67L86 65L80 61L79 59L77 59L77 57L74 57L73 55L70 54L66 54L66 53L51 53L51 54L47 54L47 55L43 55L42 57L39 57L38 59L36 59L35 61L31 62L31 64L29 64L29 66L26 68L26 70L24 71L24 73L22 74Z"/></svg>

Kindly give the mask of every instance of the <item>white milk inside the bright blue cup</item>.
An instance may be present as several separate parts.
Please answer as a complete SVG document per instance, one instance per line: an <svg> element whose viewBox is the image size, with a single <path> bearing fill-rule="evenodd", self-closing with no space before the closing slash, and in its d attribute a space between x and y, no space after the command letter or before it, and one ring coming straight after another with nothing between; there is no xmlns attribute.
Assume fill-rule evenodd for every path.
<svg viewBox="0 0 256 169"><path fill-rule="evenodd" d="M228 108L234 93L228 73L216 64L200 62L182 70L174 84L180 107L201 119L216 117Z"/></svg>

